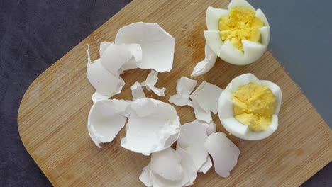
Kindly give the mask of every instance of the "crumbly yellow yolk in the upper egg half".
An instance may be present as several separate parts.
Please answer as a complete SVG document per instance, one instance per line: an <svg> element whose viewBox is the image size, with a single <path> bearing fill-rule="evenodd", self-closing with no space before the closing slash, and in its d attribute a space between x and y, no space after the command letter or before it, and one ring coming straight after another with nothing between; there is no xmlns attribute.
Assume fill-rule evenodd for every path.
<svg viewBox="0 0 332 187"><path fill-rule="evenodd" d="M218 28L223 42L230 40L234 47L243 51L242 40L260 41L260 28L264 23L255 17L248 7L235 6L228 16L219 18Z"/></svg>

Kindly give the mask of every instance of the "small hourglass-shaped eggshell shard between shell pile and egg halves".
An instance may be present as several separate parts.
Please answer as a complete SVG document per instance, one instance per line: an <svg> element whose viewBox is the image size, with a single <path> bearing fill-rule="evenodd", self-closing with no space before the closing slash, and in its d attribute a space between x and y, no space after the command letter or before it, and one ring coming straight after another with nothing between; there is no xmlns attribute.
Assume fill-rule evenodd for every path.
<svg viewBox="0 0 332 187"><path fill-rule="evenodd" d="M168 101L177 106L192 106L189 95L194 90L196 84L197 81L189 79L188 77L177 79L177 94L170 96Z"/></svg>

